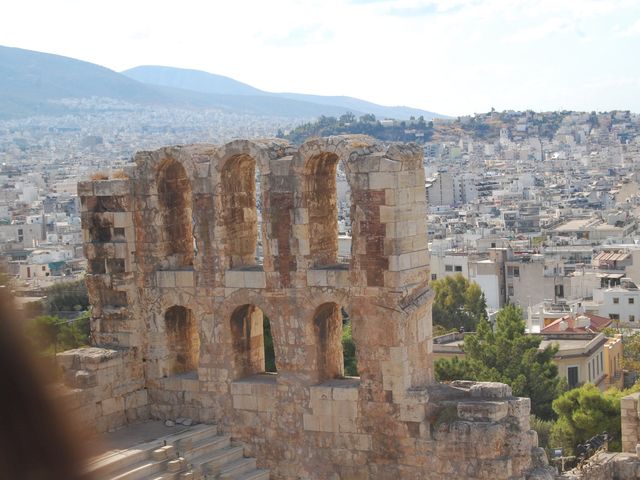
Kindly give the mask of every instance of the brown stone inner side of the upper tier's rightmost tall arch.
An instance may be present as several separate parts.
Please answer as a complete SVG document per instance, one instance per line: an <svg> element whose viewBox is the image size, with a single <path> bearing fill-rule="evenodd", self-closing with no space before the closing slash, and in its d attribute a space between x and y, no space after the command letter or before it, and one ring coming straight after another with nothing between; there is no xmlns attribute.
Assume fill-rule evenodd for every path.
<svg viewBox="0 0 640 480"><path fill-rule="evenodd" d="M321 153L307 163L306 207L313 267L338 264L338 156Z"/></svg>

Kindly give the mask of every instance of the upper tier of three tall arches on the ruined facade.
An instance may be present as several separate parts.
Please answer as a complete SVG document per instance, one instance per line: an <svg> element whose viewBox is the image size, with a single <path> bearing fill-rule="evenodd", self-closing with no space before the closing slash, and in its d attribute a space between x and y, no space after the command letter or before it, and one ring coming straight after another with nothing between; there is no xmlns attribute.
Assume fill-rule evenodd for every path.
<svg viewBox="0 0 640 480"><path fill-rule="evenodd" d="M286 287L296 272L347 269L364 272L367 286L383 286L385 271L401 269L400 255L421 249L397 233L417 235L426 215L416 145L361 135L300 146L236 140L141 152L135 161L136 254L148 272L193 269L209 272L214 283L227 277L226 286L263 287L269 277L246 272L275 272ZM349 186L350 255L339 254L338 169ZM402 201L409 216L394 218ZM349 264L340 263L344 258ZM418 263L405 259L409 268ZM245 274L228 274L234 271Z"/></svg>

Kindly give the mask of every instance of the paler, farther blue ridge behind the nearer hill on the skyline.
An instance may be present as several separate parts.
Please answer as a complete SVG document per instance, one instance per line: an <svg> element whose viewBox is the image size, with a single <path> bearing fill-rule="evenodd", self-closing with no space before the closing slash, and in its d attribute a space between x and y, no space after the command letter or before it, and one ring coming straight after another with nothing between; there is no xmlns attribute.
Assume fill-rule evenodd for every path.
<svg viewBox="0 0 640 480"><path fill-rule="evenodd" d="M254 88L246 83L232 78L207 73L200 70L161 66L140 66L122 72L124 75L139 82L165 87L184 88L203 93L226 95L267 95L280 99L296 100L300 102L338 108L341 113L350 111L356 114L372 113L380 118L396 118L399 120L410 117L423 116L426 120L434 117L444 117L434 112L410 107L386 107L376 103L360 100L359 98L344 96L307 95L302 93L273 93ZM329 115L325 113L325 115Z"/></svg>

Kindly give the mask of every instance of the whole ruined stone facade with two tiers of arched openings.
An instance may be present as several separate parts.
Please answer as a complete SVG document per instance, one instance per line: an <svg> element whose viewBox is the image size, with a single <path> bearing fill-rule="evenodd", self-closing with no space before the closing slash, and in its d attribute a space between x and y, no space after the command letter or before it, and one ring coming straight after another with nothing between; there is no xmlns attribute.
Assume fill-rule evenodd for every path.
<svg viewBox="0 0 640 480"><path fill-rule="evenodd" d="M99 347L60 355L78 418L98 430L217 423L272 478L550 478L528 399L502 384L434 382L417 146L234 141L135 163L125 178L78 187ZM358 378L343 375L343 309ZM277 373L265 372L265 317Z"/></svg>

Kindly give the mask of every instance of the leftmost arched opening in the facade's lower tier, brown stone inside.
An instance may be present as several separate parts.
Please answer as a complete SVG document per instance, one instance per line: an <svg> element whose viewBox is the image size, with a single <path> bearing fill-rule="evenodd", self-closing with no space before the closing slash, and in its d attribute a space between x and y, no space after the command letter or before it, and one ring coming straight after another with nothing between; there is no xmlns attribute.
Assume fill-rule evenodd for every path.
<svg viewBox="0 0 640 480"><path fill-rule="evenodd" d="M200 337L193 312L175 305L164 314L167 346L169 348L169 371L172 374L190 372L198 368Z"/></svg>

